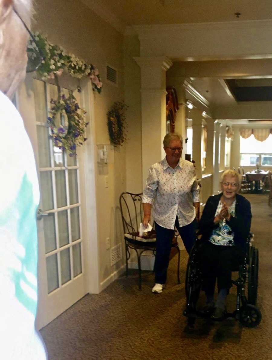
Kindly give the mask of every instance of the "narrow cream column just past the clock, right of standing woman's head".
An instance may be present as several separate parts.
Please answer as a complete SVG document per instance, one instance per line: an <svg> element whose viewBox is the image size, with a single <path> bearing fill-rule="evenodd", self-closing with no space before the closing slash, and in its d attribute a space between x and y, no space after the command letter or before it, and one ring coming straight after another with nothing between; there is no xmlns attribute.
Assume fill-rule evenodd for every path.
<svg viewBox="0 0 272 360"><path fill-rule="evenodd" d="M192 139L192 160L195 161L196 177L201 179L201 125L202 125L202 111L193 108L189 111L192 119L193 139Z"/></svg>

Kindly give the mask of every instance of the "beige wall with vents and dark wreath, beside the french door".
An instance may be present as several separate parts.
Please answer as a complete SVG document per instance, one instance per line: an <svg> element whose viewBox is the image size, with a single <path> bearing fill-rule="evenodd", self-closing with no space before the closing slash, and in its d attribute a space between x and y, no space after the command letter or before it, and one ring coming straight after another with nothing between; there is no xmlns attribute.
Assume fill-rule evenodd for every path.
<svg viewBox="0 0 272 360"><path fill-rule="evenodd" d="M104 86L100 95L94 94L95 134L92 135L96 144L109 144L106 113L124 94L123 36L78 0L37 1L35 11L34 30L47 34L50 42L98 67ZM118 87L106 82L106 64L118 69ZM110 251L106 250L107 237L111 247L119 242L123 244L118 200L126 186L125 147L115 149L113 157L114 162L103 171L98 171L95 164L100 284L124 264L123 252L123 260L111 267ZM105 188L105 176L108 176L108 188Z"/></svg>

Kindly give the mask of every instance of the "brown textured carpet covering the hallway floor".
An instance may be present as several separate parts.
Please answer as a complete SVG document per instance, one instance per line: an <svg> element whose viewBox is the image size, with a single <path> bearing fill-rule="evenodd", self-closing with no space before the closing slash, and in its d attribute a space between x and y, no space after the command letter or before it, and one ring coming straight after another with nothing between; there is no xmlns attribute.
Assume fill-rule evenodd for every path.
<svg viewBox="0 0 272 360"><path fill-rule="evenodd" d="M130 270L128 278L123 275L102 293L86 295L42 329L49 360L272 359L272 208L268 195L245 196L260 256L258 307L263 319L257 328L244 328L234 319L197 319L195 329L187 329L182 315L187 255L182 251L182 284L177 284L177 256L162 294L151 293L154 275L148 271L139 291L136 271ZM228 311L234 310L235 290L228 296Z"/></svg>

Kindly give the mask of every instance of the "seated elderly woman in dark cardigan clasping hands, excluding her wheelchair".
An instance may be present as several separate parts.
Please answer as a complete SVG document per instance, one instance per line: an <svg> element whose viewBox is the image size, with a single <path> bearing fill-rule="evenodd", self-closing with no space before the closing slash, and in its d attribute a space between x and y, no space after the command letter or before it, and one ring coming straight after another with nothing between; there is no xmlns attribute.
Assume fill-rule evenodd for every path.
<svg viewBox="0 0 272 360"><path fill-rule="evenodd" d="M246 240L250 231L250 202L237 194L241 175L226 170L221 176L222 192L210 196L204 207L199 235L202 235L199 266L206 305L200 311L213 320L223 320L226 296L231 287L231 271L237 269L246 254ZM214 302L217 279L218 296Z"/></svg>

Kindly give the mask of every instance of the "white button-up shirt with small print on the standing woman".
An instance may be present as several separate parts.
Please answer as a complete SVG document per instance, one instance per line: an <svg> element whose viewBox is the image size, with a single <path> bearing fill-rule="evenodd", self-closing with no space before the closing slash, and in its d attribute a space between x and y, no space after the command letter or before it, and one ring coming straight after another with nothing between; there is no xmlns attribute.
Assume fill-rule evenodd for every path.
<svg viewBox="0 0 272 360"><path fill-rule="evenodd" d="M154 220L163 228L174 229L176 217L180 226L190 224L196 215L193 203L199 202L194 165L180 159L173 169L166 157L152 165L142 202L153 204Z"/></svg>

